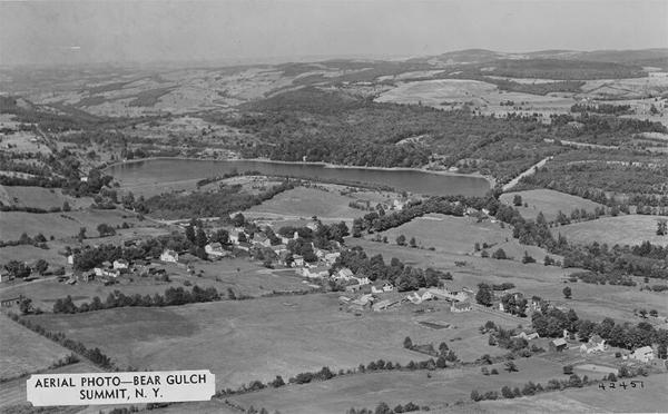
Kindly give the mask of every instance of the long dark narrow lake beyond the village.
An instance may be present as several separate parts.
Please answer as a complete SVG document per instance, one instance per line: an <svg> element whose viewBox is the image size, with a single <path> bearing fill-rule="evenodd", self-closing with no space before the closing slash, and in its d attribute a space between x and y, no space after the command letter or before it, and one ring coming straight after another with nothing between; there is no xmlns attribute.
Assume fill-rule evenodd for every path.
<svg viewBox="0 0 668 414"><path fill-rule="evenodd" d="M105 172L124 184L154 184L222 176L234 170L259 171L267 176L291 176L314 180L343 180L386 185L425 195L482 196L490 189L484 178L443 175L419 170L335 168L320 164L271 162L258 160L200 160L159 158L117 164Z"/></svg>

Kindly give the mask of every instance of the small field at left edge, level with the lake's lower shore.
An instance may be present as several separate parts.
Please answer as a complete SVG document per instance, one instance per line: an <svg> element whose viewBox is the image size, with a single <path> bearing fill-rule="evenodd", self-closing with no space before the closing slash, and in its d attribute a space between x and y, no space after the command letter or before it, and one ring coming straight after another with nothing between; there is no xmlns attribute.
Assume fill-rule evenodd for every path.
<svg viewBox="0 0 668 414"><path fill-rule="evenodd" d="M52 207L61 208L65 201L72 209L78 209L89 207L92 204L92 198L66 196L60 188L0 186L0 203L7 206L49 209Z"/></svg>

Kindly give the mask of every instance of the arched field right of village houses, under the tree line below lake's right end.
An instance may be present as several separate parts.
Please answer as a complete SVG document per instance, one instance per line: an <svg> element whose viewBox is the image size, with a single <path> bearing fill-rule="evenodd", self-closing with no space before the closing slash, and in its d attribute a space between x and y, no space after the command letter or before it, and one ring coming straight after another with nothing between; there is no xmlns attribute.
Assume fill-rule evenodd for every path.
<svg viewBox="0 0 668 414"><path fill-rule="evenodd" d="M473 255L474 245L487 243L488 253L491 255L498 248L502 248L507 256L521 260L527 250L537 260L546 256L542 248L536 246L523 246L512 238L509 227L501 228L499 223L484 220L477 223L472 217L454 217L439 214L430 214L405 223L380 234L387 236L391 244L400 235L406 237L406 244L411 237L415 237L418 246L423 248L434 247L435 252L444 252L459 255ZM370 236L374 237L374 236Z"/></svg>

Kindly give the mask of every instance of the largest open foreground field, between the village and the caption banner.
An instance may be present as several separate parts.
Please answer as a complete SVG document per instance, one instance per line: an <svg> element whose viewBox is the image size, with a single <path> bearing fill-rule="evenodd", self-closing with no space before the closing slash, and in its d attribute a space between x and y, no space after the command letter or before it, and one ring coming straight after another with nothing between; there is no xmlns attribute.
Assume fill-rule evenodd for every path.
<svg viewBox="0 0 668 414"><path fill-rule="evenodd" d="M87 346L100 347L118 366L160 369L210 368L217 387L236 387L252 379L284 378L305 371L356 367L383 358L406 364L426 355L403 348L442 341L462 359L503 352L488 345L478 327L494 315L413 314L413 307L355 316L338 309L336 294L283 296L253 300L166 308L116 308L76 315L39 315L30 319L63 332ZM418 322L444 321L453 329L431 329ZM511 325L512 326L512 325ZM456 337L465 341L453 341ZM197 349L197 352L193 352ZM232 352L230 349L234 349Z"/></svg>

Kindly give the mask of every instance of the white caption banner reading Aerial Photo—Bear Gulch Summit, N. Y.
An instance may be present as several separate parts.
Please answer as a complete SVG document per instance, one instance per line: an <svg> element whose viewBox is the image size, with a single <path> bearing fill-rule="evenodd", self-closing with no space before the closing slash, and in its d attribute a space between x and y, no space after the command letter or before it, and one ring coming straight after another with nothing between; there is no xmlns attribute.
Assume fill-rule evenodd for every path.
<svg viewBox="0 0 668 414"><path fill-rule="evenodd" d="M208 401L215 375L203 371L31 375L28 401L33 406L173 403Z"/></svg>

